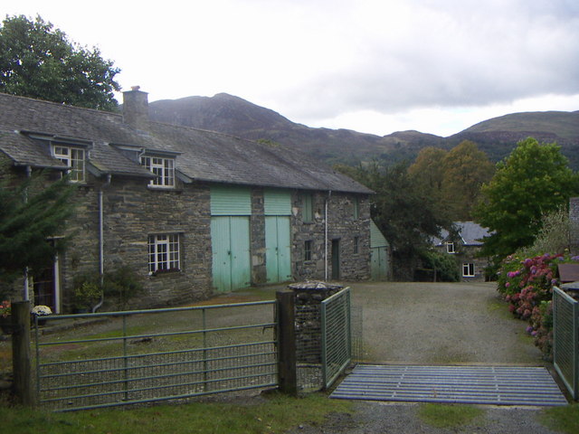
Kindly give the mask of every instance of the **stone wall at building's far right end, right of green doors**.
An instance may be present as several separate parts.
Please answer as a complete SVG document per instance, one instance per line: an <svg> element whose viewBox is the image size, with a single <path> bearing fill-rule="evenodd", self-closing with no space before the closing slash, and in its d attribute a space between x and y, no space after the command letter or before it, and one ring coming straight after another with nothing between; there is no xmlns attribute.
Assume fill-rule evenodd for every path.
<svg viewBox="0 0 579 434"><path fill-rule="evenodd" d="M312 194L314 218L303 221L303 197ZM358 198L358 218L354 202ZM292 249L294 278L325 278L325 201L328 198L327 265L332 276L331 242L339 240L340 280L370 278L370 203L367 195L353 193L297 192L292 197ZM355 252L357 238L357 253ZM311 241L311 259L305 260L305 242Z"/></svg>

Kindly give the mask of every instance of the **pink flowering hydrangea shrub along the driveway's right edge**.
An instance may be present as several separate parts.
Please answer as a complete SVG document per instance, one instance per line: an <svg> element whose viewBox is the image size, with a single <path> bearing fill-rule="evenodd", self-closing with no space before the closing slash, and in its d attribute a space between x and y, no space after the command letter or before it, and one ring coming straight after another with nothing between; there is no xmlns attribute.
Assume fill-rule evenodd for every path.
<svg viewBox="0 0 579 434"><path fill-rule="evenodd" d="M508 310L529 322L527 333L547 359L553 347L553 287L559 285L557 265L573 259L562 254L521 259L515 255L503 260L498 273L498 292L508 301Z"/></svg>

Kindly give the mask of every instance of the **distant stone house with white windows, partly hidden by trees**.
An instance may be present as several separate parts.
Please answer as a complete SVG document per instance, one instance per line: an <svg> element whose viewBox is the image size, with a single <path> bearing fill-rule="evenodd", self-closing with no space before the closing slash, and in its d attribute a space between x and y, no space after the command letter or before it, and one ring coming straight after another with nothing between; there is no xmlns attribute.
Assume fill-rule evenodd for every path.
<svg viewBox="0 0 579 434"><path fill-rule="evenodd" d="M463 281L484 281L489 259L479 258L477 254L482 247L481 240L489 236L489 231L475 222L453 222L453 225L456 235L441 231L441 237L432 241L434 248L456 258Z"/></svg>

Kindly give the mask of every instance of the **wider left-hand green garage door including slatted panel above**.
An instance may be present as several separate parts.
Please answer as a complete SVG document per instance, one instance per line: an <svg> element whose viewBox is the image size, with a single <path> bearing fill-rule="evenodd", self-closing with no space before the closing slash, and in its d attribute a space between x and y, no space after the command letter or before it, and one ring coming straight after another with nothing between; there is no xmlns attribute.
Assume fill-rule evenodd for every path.
<svg viewBox="0 0 579 434"><path fill-rule="evenodd" d="M251 284L249 188L214 186L211 189L213 281L218 291Z"/></svg>

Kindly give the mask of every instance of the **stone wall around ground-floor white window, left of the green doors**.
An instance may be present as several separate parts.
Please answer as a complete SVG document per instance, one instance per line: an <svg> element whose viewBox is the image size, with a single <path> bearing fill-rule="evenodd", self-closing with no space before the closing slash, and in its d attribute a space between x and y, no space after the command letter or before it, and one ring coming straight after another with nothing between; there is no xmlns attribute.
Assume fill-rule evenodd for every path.
<svg viewBox="0 0 579 434"><path fill-rule="evenodd" d="M71 230L71 248L62 264L64 301L70 308L75 275L99 271L100 185L80 188L80 205ZM176 190L147 186L143 179L114 177L103 187L104 270L129 266L145 294L130 307L161 307L191 302L211 294L211 216L209 188L180 185ZM181 269L148 273L148 235L179 233Z"/></svg>

